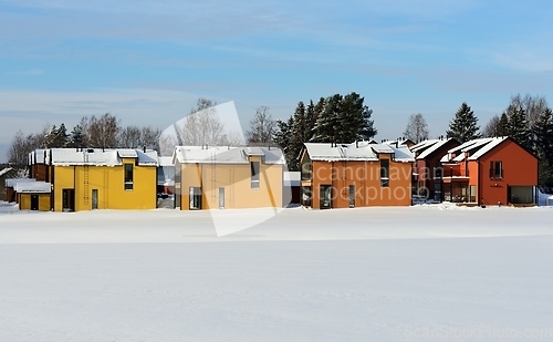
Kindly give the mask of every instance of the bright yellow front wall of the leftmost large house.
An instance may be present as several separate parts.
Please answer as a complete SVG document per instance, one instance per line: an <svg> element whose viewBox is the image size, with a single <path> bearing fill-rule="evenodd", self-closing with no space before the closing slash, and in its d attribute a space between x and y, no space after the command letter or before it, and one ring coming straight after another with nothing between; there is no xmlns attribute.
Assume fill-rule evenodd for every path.
<svg viewBox="0 0 553 342"><path fill-rule="evenodd" d="M126 163L133 164L132 190L125 190L123 165L55 166L54 210L63 209L63 189L75 189L75 211L92 209L93 189L98 209L155 209L156 166L137 166L134 158L123 159Z"/></svg>

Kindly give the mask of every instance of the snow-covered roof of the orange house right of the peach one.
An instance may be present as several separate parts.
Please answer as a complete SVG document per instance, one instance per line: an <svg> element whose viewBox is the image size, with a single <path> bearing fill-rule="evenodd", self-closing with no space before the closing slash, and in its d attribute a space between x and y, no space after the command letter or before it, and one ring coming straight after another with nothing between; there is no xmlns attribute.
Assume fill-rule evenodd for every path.
<svg viewBox="0 0 553 342"><path fill-rule="evenodd" d="M396 162L415 162L413 153L406 145L395 147L387 144L369 144L368 142L358 142L353 144L330 143L305 143L305 148L312 160L359 160L377 162L378 154L394 154Z"/></svg>

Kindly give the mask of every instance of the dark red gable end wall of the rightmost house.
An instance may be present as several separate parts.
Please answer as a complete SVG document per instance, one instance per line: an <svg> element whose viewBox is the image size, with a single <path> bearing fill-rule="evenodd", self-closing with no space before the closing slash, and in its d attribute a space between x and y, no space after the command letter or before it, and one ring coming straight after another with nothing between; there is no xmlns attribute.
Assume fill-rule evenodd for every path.
<svg viewBox="0 0 553 342"><path fill-rule="evenodd" d="M490 178L490 162L502 162L503 177ZM505 139L479 159L480 205L508 204L509 186L538 186L538 158Z"/></svg>

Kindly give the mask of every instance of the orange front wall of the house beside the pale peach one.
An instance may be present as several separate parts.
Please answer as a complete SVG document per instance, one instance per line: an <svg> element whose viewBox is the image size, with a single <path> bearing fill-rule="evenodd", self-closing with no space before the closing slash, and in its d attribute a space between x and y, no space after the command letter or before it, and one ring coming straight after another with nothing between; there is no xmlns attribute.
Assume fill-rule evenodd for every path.
<svg viewBox="0 0 553 342"><path fill-rule="evenodd" d="M380 159L389 159L382 155ZM349 186L355 186L355 207L410 206L411 164L389 163L389 186L380 186L379 162L312 162L312 207L320 209L321 186L332 187L332 207L349 207Z"/></svg>

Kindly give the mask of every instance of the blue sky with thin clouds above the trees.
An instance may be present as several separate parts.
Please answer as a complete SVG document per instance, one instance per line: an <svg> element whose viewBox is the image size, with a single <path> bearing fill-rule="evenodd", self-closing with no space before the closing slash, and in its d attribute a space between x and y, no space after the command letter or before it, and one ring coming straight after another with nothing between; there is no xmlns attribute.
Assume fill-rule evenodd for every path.
<svg viewBox="0 0 553 342"><path fill-rule="evenodd" d="M377 138L462 102L483 126L511 95L553 102L550 1L0 0L0 162L14 132L109 112L165 128L198 97L274 118L357 92Z"/></svg>

